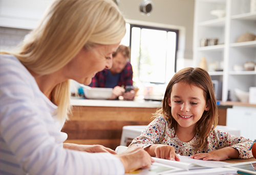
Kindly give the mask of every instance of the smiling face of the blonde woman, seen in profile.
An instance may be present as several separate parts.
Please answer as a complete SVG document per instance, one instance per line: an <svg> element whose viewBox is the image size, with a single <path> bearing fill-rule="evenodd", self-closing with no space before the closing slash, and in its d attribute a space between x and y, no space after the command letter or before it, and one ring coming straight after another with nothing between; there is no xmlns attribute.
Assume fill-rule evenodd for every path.
<svg viewBox="0 0 256 175"><path fill-rule="evenodd" d="M119 43L97 45L87 50L82 48L65 66L66 76L81 84L89 85L97 72L112 67L112 53L117 50Z"/></svg>

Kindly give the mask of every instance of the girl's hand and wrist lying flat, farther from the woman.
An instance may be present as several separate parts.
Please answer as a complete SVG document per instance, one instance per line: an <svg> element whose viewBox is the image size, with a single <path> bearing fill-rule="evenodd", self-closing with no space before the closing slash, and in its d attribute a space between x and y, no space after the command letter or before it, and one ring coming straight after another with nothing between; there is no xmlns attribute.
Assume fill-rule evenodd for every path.
<svg viewBox="0 0 256 175"><path fill-rule="evenodd" d="M239 152L237 149L232 147L225 147L222 149L214 150L208 153L199 153L193 156L190 156L191 159L203 159L203 160L215 160L222 161L227 158L238 159Z"/></svg>

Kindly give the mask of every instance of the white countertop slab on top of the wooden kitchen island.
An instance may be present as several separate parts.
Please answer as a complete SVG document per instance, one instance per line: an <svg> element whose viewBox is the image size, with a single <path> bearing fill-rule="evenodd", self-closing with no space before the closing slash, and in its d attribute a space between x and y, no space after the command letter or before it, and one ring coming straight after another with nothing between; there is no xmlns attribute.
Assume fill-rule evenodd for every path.
<svg viewBox="0 0 256 175"><path fill-rule="evenodd" d="M108 106L108 107L162 107L160 101L146 101L146 100L84 100L71 99L73 106Z"/></svg>

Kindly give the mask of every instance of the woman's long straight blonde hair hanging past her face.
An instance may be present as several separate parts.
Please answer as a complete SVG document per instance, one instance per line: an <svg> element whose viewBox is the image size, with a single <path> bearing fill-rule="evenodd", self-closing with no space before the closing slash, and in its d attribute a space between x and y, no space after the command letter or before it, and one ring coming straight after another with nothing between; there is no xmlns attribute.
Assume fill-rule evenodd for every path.
<svg viewBox="0 0 256 175"><path fill-rule="evenodd" d="M112 45L125 34L125 20L113 0L56 0L46 10L40 24L11 54L39 75L53 73L66 65L83 47ZM58 119L68 119L69 80L53 89Z"/></svg>

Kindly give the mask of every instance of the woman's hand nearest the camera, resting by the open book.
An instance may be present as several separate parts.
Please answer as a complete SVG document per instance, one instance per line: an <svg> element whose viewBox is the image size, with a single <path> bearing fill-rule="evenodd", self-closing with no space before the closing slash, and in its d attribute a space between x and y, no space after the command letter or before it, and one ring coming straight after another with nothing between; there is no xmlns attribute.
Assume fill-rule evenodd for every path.
<svg viewBox="0 0 256 175"><path fill-rule="evenodd" d="M125 172L132 172L139 168L149 168L154 160L143 150L143 148L134 146L121 154L115 155L123 164Z"/></svg>

